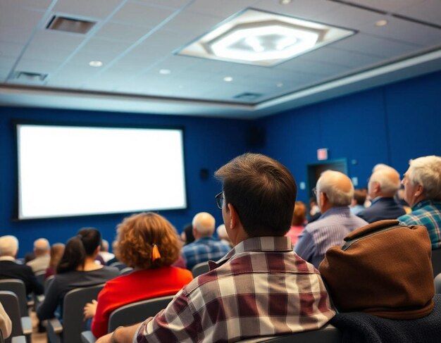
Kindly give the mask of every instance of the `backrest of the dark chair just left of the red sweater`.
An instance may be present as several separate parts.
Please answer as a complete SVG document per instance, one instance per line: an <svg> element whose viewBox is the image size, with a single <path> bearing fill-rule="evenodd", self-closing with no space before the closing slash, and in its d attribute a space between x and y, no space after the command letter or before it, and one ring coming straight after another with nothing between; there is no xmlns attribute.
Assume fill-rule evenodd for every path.
<svg viewBox="0 0 441 343"><path fill-rule="evenodd" d="M63 299L63 343L81 342L81 332L87 330L83 308L98 298L103 287L104 284L75 288L66 293Z"/></svg>

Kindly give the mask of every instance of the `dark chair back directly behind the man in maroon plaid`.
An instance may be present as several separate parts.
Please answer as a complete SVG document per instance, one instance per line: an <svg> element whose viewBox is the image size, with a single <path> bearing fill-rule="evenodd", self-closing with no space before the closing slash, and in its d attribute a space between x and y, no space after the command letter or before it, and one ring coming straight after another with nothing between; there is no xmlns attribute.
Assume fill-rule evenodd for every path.
<svg viewBox="0 0 441 343"><path fill-rule="evenodd" d="M273 337L256 337L244 339L243 343L341 343L342 334L333 325L325 325L318 330L294 332L288 335L280 335Z"/></svg>

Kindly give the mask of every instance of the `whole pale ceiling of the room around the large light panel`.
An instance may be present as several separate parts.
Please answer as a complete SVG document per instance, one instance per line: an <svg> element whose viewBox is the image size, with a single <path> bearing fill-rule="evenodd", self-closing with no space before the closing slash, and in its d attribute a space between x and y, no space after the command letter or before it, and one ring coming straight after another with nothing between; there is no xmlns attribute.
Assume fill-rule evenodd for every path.
<svg viewBox="0 0 441 343"><path fill-rule="evenodd" d="M177 55L180 48L246 8L347 27L356 34L271 68ZM20 93L20 86L28 85L36 87L37 94L49 94L30 96L31 102L42 99L36 106L50 101L55 87L78 96L82 109L83 93L75 95L75 89L90 92L87 106L98 109L106 101L102 96L92 100L97 92L108 93L108 104L113 92L120 92L125 94L120 108L142 113L170 113L174 108L209 116L206 108L211 108L216 116L262 116L441 70L441 50L435 51L441 47L441 30L425 24L440 25L440 11L440 0L293 0L287 5L280 0L0 0L0 106L11 104L11 99L20 101L23 92L32 93ZM42 26L53 13L98 23L86 35L45 30ZM387 19L388 25L375 27L380 19ZM104 65L92 68L90 61ZM161 74L164 69L170 73ZM6 80L17 70L49 77L37 83ZM225 76L233 77L232 82L225 82ZM349 87L341 86L344 82ZM15 87L8 86L11 83ZM4 87L12 90L2 92ZM304 89L308 92L301 92ZM18 96L11 97L14 92ZM262 95L235 99L245 92ZM314 92L318 95L311 96ZM150 106L149 96L162 97L161 106ZM60 98L56 94L53 99ZM75 101L66 104L75 108Z"/></svg>

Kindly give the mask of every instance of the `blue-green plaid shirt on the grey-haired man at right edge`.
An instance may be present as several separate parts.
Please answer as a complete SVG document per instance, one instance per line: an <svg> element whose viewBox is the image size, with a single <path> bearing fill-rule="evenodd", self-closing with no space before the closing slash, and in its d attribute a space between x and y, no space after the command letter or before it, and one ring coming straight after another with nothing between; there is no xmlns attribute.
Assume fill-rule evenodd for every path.
<svg viewBox="0 0 441 343"><path fill-rule="evenodd" d="M441 248L441 201L420 201L412 207L411 213L399 217L398 220L403 225L426 226L432 249Z"/></svg>

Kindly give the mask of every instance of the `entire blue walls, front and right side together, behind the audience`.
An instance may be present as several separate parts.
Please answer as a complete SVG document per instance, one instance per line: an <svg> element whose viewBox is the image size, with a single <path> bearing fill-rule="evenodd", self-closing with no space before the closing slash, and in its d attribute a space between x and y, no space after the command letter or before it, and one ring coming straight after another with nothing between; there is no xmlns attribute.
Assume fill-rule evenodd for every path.
<svg viewBox="0 0 441 343"><path fill-rule="evenodd" d="M128 113L0 108L0 235L20 240L20 256L32 249L37 237L65 242L80 227L94 226L108 240L125 215L88 216L46 220L11 220L15 207L16 157L12 120L112 125L182 125L189 207L165 211L177 228L194 213L209 211L221 223L213 196L220 185L211 177L201 180L199 170L216 168L244 151L268 154L284 163L297 179L306 182L306 166L317 163L316 149L328 148L330 159L347 158L350 177L366 186L375 163L387 163L404 173L410 158L441 155L441 72L342 96L259 120L222 120ZM250 147L249 130L265 131L265 142ZM251 130L256 134L259 130ZM257 139L259 141L259 139ZM299 190L299 199L308 194Z"/></svg>

